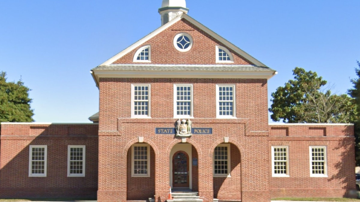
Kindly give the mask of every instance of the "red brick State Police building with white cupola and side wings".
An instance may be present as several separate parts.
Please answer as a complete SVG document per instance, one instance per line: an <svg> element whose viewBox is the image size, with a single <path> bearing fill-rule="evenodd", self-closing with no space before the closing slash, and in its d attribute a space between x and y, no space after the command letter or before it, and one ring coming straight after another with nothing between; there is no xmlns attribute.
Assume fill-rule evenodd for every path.
<svg viewBox="0 0 360 202"><path fill-rule="evenodd" d="M276 71L163 0L162 26L91 70L93 124L1 123L0 197L269 202L355 189L350 124L269 124ZM171 200L168 200L171 201Z"/></svg>

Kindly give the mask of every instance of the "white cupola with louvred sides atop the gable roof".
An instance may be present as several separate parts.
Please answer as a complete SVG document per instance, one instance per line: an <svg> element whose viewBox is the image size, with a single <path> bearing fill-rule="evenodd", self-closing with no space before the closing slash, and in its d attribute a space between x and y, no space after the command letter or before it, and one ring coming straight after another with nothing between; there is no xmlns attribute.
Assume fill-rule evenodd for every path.
<svg viewBox="0 0 360 202"><path fill-rule="evenodd" d="M185 0L163 0L161 8L159 8L159 14L161 15L161 25L163 26L181 13L187 14L188 11L189 9L186 8Z"/></svg>

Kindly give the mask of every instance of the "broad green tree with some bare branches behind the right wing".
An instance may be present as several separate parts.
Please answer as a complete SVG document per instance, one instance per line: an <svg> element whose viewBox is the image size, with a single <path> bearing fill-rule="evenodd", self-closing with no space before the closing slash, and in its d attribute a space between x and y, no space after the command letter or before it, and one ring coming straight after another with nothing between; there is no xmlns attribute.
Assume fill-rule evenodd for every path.
<svg viewBox="0 0 360 202"><path fill-rule="evenodd" d="M284 123L349 123L354 114L353 98L331 94L327 81L316 72L296 67L294 80L271 93L271 119Z"/></svg>

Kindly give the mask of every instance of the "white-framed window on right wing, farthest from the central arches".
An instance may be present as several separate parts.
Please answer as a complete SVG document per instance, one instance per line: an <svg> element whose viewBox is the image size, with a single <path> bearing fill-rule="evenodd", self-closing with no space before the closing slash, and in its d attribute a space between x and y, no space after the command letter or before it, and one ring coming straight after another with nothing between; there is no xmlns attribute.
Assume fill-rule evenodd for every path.
<svg viewBox="0 0 360 202"><path fill-rule="evenodd" d="M326 147L310 146L310 177L327 177Z"/></svg>

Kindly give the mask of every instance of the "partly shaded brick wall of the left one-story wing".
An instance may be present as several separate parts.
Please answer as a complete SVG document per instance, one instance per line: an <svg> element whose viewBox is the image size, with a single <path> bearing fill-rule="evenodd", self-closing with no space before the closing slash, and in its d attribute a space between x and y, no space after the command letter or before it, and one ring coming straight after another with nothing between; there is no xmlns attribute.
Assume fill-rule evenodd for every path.
<svg viewBox="0 0 360 202"><path fill-rule="evenodd" d="M3 124L0 198L96 198L98 125ZM46 176L29 176L30 146L47 147ZM68 145L85 146L85 176L68 177Z"/></svg>

